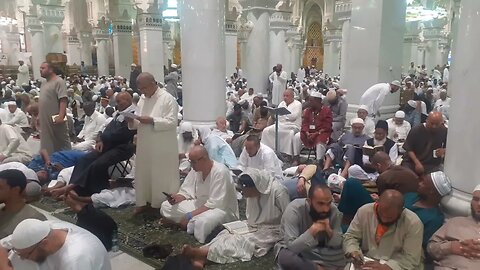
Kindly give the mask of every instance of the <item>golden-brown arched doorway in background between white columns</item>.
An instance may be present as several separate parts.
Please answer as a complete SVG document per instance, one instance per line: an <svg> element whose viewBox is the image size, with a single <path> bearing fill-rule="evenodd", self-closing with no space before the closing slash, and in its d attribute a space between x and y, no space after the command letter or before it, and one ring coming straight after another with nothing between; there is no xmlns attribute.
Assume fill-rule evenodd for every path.
<svg viewBox="0 0 480 270"><path fill-rule="evenodd" d="M305 53L303 55L304 66L323 68L323 37L322 26L318 22L310 24L307 30Z"/></svg>

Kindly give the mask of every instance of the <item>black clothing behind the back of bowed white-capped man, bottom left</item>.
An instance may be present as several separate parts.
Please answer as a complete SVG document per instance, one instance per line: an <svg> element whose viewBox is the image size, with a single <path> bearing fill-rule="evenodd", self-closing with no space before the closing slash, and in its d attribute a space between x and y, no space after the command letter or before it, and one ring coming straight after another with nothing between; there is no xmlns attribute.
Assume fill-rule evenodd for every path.
<svg viewBox="0 0 480 270"><path fill-rule="evenodd" d="M87 204L77 213L77 218L78 227L94 234L107 251L112 249L112 237L114 231L117 231L117 223L109 215Z"/></svg>

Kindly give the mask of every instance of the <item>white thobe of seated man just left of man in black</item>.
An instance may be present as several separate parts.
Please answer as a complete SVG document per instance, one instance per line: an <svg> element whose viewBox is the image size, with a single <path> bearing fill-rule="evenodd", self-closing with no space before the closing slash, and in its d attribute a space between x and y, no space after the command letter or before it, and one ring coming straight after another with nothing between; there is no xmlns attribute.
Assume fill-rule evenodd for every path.
<svg viewBox="0 0 480 270"><path fill-rule="evenodd" d="M97 111L94 111L91 116L86 115L83 128L77 136L84 141L73 145L72 149L79 151L92 150L98 133L102 131L106 120L105 116Z"/></svg>

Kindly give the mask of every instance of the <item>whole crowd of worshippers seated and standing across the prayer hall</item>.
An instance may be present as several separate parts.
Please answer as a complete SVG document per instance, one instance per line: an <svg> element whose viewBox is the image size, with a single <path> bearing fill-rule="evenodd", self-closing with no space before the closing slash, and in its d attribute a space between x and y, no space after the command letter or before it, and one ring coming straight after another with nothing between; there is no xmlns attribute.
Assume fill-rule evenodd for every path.
<svg viewBox="0 0 480 270"><path fill-rule="evenodd" d="M112 84L101 84L99 93L105 90L113 110L108 116L99 111L107 107L102 98L98 106L95 94L92 100L79 99L75 90L69 96L68 82L43 63L47 81L40 93L48 99L41 98L37 106L40 153L23 162L27 165L0 165L0 238L5 237L0 269L21 263L75 269L72 261L78 269L110 269L106 252L113 248L117 225L99 208L128 204L136 204L136 215L159 211L161 224L204 244L182 250L194 269L249 261L270 250L281 269L344 269L350 264L361 269L478 269L480 187L473 191L471 217L445 223L440 210L440 200L452 190L442 171L445 111L433 110L409 123L412 110L402 108L381 120L383 99L403 86L381 83L366 90L358 117L347 128L347 91L339 89L339 78L314 68L308 73L301 68L300 75L301 70L303 80L296 81L298 75L284 79L277 65L269 76L272 99L267 101L254 89L245 92L247 80L237 69L227 82L229 111L208 127L183 121L175 102L179 97L148 73L136 74L137 90L122 90L125 80L112 78L116 88L107 94ZM405 85L420 80L409 77ZM74 76L72 82L85 80ZM74 118L68 115L70 97L84 113L83 127L74 137L68 124ZM420 105L413 111L421 114L422 101L415 102ZM279 149L268 104L290 111L278 117ZM163 116L139 114L146 111ZM178 152L177 145L155 132L172 135ZM313 164L299 164L305 149L314 153ZM131 166L129 174L112 181L112 167L119 164ZM172 164L175 175L169 174ZM63 200L77 213L78 226L41 221L45 217L28 203L42 195ZM239 215L240 199L246 201L245 220ZM465 229L455 230L458 226Z"/></svg>

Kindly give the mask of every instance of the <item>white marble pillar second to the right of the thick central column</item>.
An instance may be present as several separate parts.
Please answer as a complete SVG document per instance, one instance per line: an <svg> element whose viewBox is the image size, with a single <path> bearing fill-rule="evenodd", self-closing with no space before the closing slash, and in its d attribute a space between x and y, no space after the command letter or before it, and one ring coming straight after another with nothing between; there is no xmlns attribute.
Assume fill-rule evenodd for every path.
<svg viewBox="0 0 480 270"><path fill-rule="evenodd" d="M247 20L253 24L245 48L245 63L242 63L248 86L257 93L267 93L268 75L272 72L270 62L270 14L262 10L244 10Z"/></svg>

